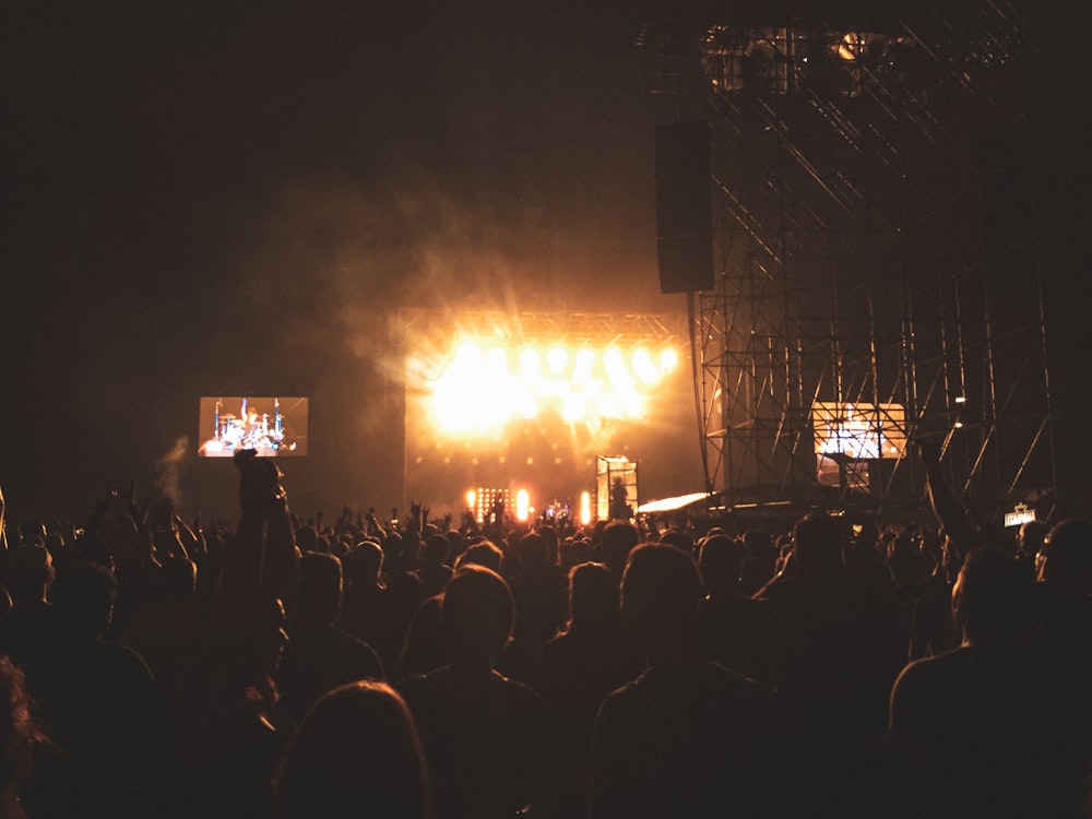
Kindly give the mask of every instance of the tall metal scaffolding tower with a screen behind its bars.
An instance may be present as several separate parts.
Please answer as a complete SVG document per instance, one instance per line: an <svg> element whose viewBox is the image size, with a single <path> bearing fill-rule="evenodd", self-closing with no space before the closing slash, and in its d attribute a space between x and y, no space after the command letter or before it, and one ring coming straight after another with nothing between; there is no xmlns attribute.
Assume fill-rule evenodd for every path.
<svg viewBox="0 0 1092 819"><path fill-rule="evenodd" d="M716 278L687 296L707 490L914 511L926 447L984 518L1049 517L1032 24L994 0L719 5L662 8L641 41L665 116L710 123Z"/></svg>

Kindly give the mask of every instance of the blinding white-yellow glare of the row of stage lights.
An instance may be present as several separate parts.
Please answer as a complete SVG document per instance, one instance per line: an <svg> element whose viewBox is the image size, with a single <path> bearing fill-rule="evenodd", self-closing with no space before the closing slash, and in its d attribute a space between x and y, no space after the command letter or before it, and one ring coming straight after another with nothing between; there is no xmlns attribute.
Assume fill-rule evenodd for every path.
<svg viewBox="0 0 1092 819"><path fill-rule="evenodd" d="M609 420L643 419L649 397L678 360L670 347L506 348L463 336L430 384L429 406L437 427L455 436L497 436L509 422L545 412L598 428Z"/></svg>

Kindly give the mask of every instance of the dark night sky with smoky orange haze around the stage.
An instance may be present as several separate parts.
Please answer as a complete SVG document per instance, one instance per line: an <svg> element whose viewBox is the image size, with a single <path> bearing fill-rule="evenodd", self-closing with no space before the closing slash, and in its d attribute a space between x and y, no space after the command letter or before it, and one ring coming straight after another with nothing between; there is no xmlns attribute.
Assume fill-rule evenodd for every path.
<svg viewBox="0 0 1092 819"><path fill-rule="evenodd" d="M233 514L232 466L194 455L207 394L311 397L311 454L284 465L302 511L401 502L400 309L684 309L658 292L642 4L115 5L16 0L0 20L16 520L82 518L133 478ZM1088 106L1069 87L1055 110ZM1054 290L1083 287L1059 321L1083 328L1087 111L1052 128L1045 244ZM1071 401L1083 333L1058 370Z"/></svg>

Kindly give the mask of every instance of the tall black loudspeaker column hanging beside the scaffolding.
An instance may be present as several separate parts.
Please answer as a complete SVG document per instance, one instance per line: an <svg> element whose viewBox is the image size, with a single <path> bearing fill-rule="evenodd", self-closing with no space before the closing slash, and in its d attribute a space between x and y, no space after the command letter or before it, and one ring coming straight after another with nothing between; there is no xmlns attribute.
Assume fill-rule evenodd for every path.
<svg viewBox="0 0 1092 819"><path fill-rule="evenodd" d="M709 122L656 127L656 261L661 293L713 287Z"/></svg>

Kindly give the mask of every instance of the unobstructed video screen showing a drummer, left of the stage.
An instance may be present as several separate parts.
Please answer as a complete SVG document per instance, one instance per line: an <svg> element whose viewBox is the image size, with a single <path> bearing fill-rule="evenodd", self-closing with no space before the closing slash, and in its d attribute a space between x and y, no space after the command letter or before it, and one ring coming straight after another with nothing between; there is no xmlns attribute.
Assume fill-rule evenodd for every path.
<svg viewBox="0 0 1092 819"><path fill-rule="evenodd" d="M265 458L306 455L307 399L202 396L198 440L202 458L230 458L240 449Z"/></svg>

